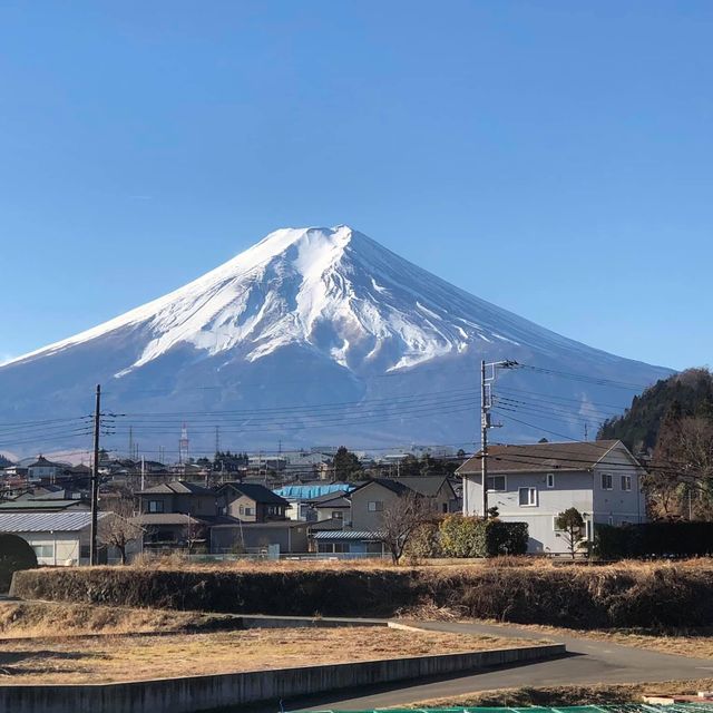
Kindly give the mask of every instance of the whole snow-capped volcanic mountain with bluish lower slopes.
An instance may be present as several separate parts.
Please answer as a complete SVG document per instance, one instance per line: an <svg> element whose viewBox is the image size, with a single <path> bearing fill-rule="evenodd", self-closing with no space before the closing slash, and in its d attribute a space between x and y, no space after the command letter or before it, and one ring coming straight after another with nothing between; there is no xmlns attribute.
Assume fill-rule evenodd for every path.
<svg viewBox="0 0 713 713"><path fill-rule="evenodd" d="M184 423L196 455L216 437L232 450L467 443L481 359L527 365L498 374L501 440L582 438L672 373L538 326L348 226L285 228L0 367L0 451L86 447L85 422L59 419L89 413L97 383L104 411L121 414L107 416L117 451L130 429L146 453L170 453Z"/></svg>

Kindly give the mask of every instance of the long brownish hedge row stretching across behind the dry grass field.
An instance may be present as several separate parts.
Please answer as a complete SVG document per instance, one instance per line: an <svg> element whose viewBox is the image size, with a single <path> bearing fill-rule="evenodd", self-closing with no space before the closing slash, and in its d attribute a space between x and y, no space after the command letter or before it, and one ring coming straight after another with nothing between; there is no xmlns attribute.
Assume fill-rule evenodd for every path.
<svg viewBox="0 0 713 713"><path fill-rule="evenodd" d="M497 560L494 560L497 561ZM17 573L29 599L273 615L393 616L421 607L457 616L580 628L713 625L713 567L232 572L130 567Z"/></svg>

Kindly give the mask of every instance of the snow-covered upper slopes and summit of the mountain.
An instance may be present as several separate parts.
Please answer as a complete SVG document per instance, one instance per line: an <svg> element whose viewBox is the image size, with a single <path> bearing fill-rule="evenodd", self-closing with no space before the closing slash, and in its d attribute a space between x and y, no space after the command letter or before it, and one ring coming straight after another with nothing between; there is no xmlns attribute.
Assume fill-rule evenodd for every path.
<svg viewBox="0 0 713 713"><path fill-rule="evenodd" d="M246 361L301 344L358 373L414 367L471 344L575 345L340 225L275 231L184 287L16 361L127 328L147 339L118 378L179 344Z"/></svg>

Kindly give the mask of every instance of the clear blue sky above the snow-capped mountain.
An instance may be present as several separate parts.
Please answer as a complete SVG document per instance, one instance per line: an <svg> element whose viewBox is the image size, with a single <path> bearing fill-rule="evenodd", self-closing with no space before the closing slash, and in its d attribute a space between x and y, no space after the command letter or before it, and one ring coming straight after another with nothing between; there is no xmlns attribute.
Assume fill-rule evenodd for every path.
<svg viewBox="0 0 713 713"><path fill-rule="evenodd" d="M0 0L0 356L281 226L683 368L713 349L713 3Z"/></svg>

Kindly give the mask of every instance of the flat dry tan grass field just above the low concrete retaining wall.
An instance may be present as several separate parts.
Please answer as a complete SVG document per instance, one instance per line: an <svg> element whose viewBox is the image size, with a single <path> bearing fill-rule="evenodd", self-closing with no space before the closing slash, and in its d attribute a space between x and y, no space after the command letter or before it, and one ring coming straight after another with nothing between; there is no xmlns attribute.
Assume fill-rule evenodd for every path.
<svg viewBox="0 0 713 713"><path fill-rule="evenodd" d="M65 639L40 637L3 643L0 684L99 683L193 676L531 646L534 643L385 627L274 628Z"/></svg>

